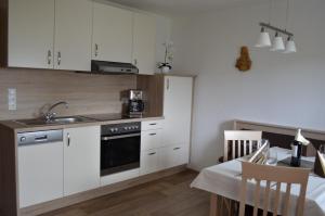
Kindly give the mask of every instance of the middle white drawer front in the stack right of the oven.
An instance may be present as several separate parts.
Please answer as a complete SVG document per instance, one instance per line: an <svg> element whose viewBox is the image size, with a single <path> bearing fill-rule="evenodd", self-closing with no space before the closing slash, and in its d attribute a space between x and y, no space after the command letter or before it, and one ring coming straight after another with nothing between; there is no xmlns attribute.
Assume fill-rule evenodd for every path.
<svg viewBox="0 0 325 216"><path fill-rule="evenodd" d="M141 151L152 150L161 145L161 130L141 132Z"/></svg>

